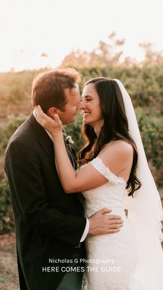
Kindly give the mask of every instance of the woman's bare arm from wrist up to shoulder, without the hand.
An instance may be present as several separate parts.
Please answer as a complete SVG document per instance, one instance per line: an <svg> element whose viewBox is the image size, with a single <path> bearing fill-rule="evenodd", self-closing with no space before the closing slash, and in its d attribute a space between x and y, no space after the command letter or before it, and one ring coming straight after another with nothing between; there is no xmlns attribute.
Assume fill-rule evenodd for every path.
<svg viewBox="0 0 163 290"><path fill-rule="evenodd" d="M108 182L108 179L99 173L91 163L75 171L68 158L62 134L53 135L52 138L59 179L66 193L91 190ZM125 179L124 172L126 167L128 167L127 174L131 170L133 149L131 147L128 148L128 144L122 142L114 145L114 148L106 149L100 155L100 159L108 166L111 172ZM111 155L110 158L108 158L109 155Z"/></svg>

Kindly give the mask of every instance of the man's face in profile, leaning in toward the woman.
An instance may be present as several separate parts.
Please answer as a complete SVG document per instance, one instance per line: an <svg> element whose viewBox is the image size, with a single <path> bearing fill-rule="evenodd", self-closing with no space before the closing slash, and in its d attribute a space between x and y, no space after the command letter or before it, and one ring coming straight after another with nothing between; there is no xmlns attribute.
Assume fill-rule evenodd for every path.
<svg viewBox="0 0 163 290"><path fill-rule="evenodd" d="M75 84L73 89L64 89L66 96L66 105L64 109L57 109L57 113L63 125L73 123L77 114L77 109L80 105L79 101L79 87Z"/></svg>

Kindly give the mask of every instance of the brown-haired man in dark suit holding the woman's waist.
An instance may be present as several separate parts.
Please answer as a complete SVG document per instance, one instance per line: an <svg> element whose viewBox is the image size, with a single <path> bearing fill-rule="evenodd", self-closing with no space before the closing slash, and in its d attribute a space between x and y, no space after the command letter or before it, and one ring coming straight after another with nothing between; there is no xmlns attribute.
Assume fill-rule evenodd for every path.
<svg viewBox="0 0 163 290"><path fill-rule="evenodd" d="M79 73L73 69L41 73L32 84L32 105L41 105L64 125L73 123L79 107ZM76 166L72 149L70 161ZM79 194L65 194L55 167L50 135L37 123L35 111L8 143L5 160L17 236L21 290L79 290L84 271L86 235L115 233L120 217L96 212L83 215ZM77 262L78 261L78 262Z"/></svg>

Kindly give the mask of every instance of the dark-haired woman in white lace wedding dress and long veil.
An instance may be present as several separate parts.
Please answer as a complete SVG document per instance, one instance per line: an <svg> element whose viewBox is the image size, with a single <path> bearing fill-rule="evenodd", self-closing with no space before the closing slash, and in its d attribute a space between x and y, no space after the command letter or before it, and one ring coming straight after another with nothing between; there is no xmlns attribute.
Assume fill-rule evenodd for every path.
<svg viewBox="0 0 163 290"><path fill-rule="evenodd" d="M86 144L76 172L66 153L59 116L52 120L39 106L36 114L52 134L65 192L82 192L86 217L109 206L124 220L117 233L86 237L83 289L162 290L162 206L131 98L119 80L95 78L84 86L81 109Z"/></svg>

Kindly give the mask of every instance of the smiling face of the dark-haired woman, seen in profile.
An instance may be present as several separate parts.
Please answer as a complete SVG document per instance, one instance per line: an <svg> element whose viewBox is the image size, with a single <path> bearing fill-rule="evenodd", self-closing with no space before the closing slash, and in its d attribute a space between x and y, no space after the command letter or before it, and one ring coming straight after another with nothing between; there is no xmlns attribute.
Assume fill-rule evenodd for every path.
<svg viewBox="0 0 163 290"><path fill-rule="evenodd" d="M87 84L82 93L81 109L83 110L83 122L95 127L104 124L102 109L99 105L99 96L94 84Z"/></svg>

